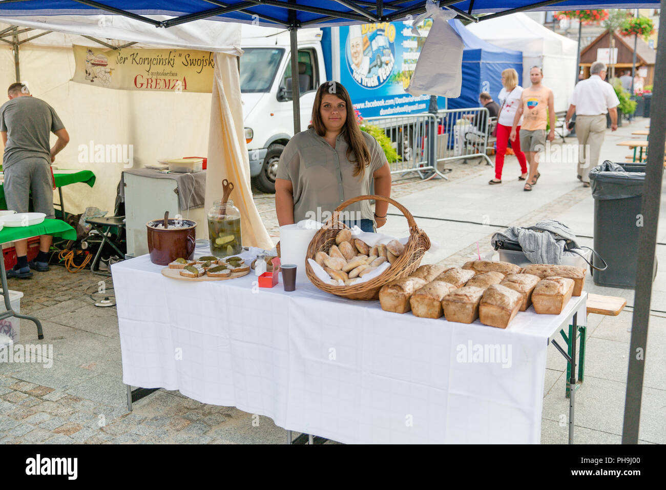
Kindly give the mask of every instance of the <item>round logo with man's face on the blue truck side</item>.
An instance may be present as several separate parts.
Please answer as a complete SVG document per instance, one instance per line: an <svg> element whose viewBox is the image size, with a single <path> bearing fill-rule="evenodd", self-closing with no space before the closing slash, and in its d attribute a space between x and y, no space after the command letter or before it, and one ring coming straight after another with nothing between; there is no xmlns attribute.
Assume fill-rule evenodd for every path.
<svg viewBox="0 0 666 490"><path fill-rule="evenodd" d="M395 38L396 28L388 22L349 27L347 67L358 85L376 89L386 83L396 62Z"/></svg>

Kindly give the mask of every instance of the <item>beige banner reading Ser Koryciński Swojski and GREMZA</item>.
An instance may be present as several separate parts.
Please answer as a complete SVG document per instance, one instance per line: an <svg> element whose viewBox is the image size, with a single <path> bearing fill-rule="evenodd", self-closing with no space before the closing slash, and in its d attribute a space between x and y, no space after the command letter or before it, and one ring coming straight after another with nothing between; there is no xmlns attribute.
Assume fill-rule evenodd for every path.
<svg viewBox="0 0 666 490"><path fill-rule="evenodd" d="M212 91L213 53L192 49L106 49L73 46L72 81L107 89Z"/></svg>

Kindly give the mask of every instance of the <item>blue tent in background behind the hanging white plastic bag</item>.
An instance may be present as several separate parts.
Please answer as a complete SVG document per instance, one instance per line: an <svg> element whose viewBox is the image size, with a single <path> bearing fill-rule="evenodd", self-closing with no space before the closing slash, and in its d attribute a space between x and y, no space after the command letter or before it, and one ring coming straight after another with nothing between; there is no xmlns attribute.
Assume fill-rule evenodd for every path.
<svg viewBox="0 0 666 490"><path fill-rule="evenodd" d="M488 92L497 100L501 90L501 72L513 68L521 85L523 53L488 43L472 34L461 21L452 19L451 27L462 37L462 89L460 97L446 101L448 109L479 107L479 94Z"/></svg>

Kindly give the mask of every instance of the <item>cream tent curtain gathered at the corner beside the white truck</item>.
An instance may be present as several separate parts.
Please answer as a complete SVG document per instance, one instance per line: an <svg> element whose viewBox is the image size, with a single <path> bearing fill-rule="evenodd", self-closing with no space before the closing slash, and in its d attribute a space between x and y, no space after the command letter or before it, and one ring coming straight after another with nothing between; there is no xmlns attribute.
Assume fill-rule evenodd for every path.
<svg viewBox="0 0 666 490"><path fill-rule="evenodd" d="M233 182L230 199L240 210L243 245L272 249L273 243L252 199L237 63L235 56L215 55L205 207L210 209L214 201L222 199L223 179Z"/></svg>

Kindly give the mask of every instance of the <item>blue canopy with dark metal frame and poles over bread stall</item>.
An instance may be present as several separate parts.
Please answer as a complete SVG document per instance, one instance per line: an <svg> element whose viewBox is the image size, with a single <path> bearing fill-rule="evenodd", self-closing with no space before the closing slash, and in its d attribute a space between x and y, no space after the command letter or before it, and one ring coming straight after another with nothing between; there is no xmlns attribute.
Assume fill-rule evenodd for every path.
<svg viewBox="0 0 666 490"><path fill-rule="evenodd" d="M216 19L244 23L259 23L273 27L287 27L291 31L292 73L298 73L296 59L296 33L300 27L330 27L368 22L397 21L412 18L426 10L426 0L0 0L0 17L37 15L123 15L155 27L170 27L198 19ZM661 9L659 25L666 26L666 0L442 0L440 7L448 7L458 13L459 19L484 21L515 12L538 10L570 10L591 8ZM490 13L482 18L478 14ZM167 21L158 21L149 15L172 15ZM4 33L0 32L0 40ZM666 79L666 28L659 29L657 39L655 79ZM567 75L568 76L568 75ZM294 93L300 92L298 77L294 77ZM293 97L294 132L300 131L299 100ZM651 137L643 190L643 227L639 232L637 286L635 289L631 345L629 347L629 371L623 426L623 443L635 444L639 437L643 371L647 356L647 329L651 307L652 274L657 244L657 221L663 178L663 149L666 145L666 85L655 84L651 111ZM636 355L637 351L643 353ZM572 356L575 357L575 356ZM571 383L575 385L571 369ZM571 390L570 415L573 415ZM569 420L570 441L573 420Z"/></svg>

